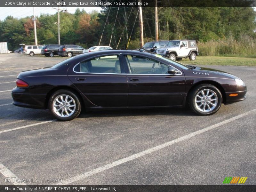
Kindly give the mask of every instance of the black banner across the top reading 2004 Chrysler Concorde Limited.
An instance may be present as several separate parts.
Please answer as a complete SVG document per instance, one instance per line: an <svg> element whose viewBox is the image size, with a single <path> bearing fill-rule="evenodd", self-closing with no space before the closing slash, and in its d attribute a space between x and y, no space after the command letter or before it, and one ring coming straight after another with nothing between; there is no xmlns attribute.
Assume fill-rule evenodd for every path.
<svg viewBox="0 0 256 192"><path fill-rule="evenodd" d="M1 0L0 7L155 7L155 1L141 0ZM159 0L158 7L254 7L256 0Z"/></svg>

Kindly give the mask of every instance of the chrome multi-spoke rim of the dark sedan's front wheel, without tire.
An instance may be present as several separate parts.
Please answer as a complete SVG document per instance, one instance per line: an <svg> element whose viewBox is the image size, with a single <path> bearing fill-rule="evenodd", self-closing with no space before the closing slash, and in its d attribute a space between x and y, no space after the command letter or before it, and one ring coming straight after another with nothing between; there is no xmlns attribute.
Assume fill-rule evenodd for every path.
<svg viewBox="0 0 256 192"><path fill-rule="evenodd" d="M196 94L194 102L199 111L210 112L216 108L218 104L218 96L214 91L204 89Z"/></svg>

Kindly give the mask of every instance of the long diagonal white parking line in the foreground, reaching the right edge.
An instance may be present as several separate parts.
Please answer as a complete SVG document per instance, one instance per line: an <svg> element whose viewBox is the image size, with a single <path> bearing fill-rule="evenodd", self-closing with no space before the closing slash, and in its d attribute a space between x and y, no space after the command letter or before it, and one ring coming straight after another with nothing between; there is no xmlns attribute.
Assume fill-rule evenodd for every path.
<svg viewBox="0 0 256 192"><path fill-rule="evenodd" d="M89 176L91 176L91 175L94 175L94 174L96 174L96 173L103 172L103 171L105 171L105 170L107 170L107 169L110 169L110 168L112 168L112 167L115 167L115 166L117 166L117 165L124 164L124 163L126 163L126 162L128 162L128 161L132 161L133 159L137 159L137 158L139 158L139 157L142 157L142 156L148 155L148 154L150 154L150 153L153 153L153 152L155 152L155 151L158 151L158 150L160 150L160 149L166 148L166 147L168 147L168 146L170 146L170 145L173 145L173 144L175 144L175 143L178 143L178 142L180 142L180 141L187 140L187 139L189 139L189 138L191 138L191 137L194 137L194 136L196 136L196 135L199 135L199 134L201 134L201 133L210 131L210 130L216 128L216 127L219 127L219 126L221 126L221 125L227 124L227 123L232 122L232 121L234 121L234 120L236 120L236 119L239 119L239 118L241 118L241 117L244 117L244 116L247 116L247 115L249 115L249 114L252 114L253 112L256 112L256 109L253 109L253 110L251 110L251 111L245 112L245 113L243 113L243 114L241 114L241 115L238 115L238 116L234 116L234 117L229 118L229 119L227 119L227 120L225 120L225 121L222 121L222 122L220 122L220 123L211 125L211 126L209 126L209 127L206 127L206 128L204 128L204 129L198 130L198 131L196 131L196 132L192 132L192 133L190 133L190 134L188 134L188 135L185 135L185 136L183 136L183 137L180 137L180 138L178 138L178 139L171 140L171 141L166 142L166 143L164 143L164 144L162 144L162 145L158 145L158 146L156 146L156 147L147 149L147 150L142 151L142 152L140 152L140 153L137 153L137 154L134 154L134 155L125 157L125 158L123 158L123 159L114 161L114 162L112 162L112 163L103 165L103 166L101 166L101 167L99 167L99 168L96 168L96 169L93 169L93 170L91 170L91 171L84 172L84 173L82 173L82 174L80 174L80 175L77 175L77 176L75 176L75 177L72 177L72 178L69 178L69 179L67 179L67 180L64 180L62 183L55 183L54 185L68 185L68 184L73 183L73 182L75 182L75 181L85 179L85 178L87 178L87 177L89 177Z"/></svg>

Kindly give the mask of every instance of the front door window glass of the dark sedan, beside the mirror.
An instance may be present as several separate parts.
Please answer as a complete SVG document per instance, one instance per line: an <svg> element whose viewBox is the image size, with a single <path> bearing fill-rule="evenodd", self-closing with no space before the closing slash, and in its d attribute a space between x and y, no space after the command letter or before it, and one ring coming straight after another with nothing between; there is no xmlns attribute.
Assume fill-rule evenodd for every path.
<svg viewBox="0 0 256 192"><path fill-rule="evenodd" d="M168 66L146 57L125 56L131 74L168 74Z"/></svg>

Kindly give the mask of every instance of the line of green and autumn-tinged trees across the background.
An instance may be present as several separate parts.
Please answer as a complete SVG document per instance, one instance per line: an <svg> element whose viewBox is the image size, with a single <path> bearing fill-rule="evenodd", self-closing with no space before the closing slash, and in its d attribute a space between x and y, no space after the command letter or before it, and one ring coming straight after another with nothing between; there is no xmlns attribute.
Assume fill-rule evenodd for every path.
<svg viewBox="0 0 256 192"><path fill-rule="evenodd" d="M146 41L155 39L154 7L143 7L143 28ZM78 44L84 48L98 45L105 26L101 45L114 49L139 47L138 7L107 7L101 12L76 9L74 14L60 12L61 44ZM252 7L158 7L159 39L196 39L198 42L218 41L232 37L255 35L255 14ZM38 44L57 44L57 13L37 17ZM0 42L8 42L8 49L19 44L34 44L32 16L0 20ZM106 25L105 25L106 24ZM134 28L133 28L134 26ZM112 36L112 37L111 37ZM110 42L111 39L111 42Z"/></svg>

